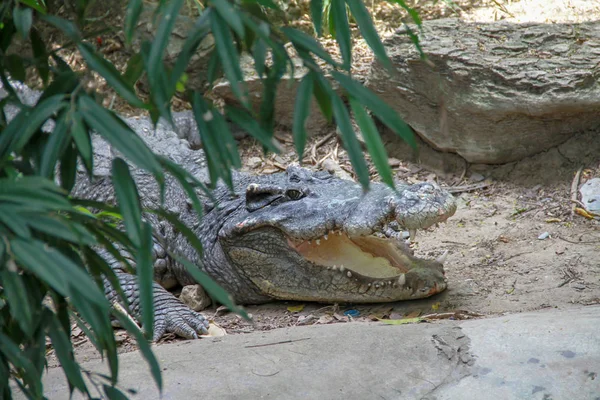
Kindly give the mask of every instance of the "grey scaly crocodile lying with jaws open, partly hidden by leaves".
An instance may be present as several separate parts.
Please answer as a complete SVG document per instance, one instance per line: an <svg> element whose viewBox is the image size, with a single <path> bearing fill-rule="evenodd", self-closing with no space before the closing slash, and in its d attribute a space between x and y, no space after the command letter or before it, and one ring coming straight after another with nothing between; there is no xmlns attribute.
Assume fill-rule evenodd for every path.
<svg viewBox="0 0 600 400"><path fill-rule="evenodd" d="M182 136L191 113L177 114L176 133L148 118L124 118L152 151L168 157L206 181L202 150L190 148ZM184 131L182 133L182 131ZM196 132L197 133L197 132ZM82 166L73 196L115 203L111 163L118 154L93 136L94 176ZM132 166L144 207L160 206L154 178ZM166 177L164 207L200 239L196 252L185 236L154 214L146 218L156 231L154 263L154 340L166 332L185 338L205 333L207 320L179 301L168 289L196 284L172 255L186 257L227 290L239 304L273 300L374 303L432 296L446 289L443 259L415 257L402 239L402 230L415 238L418 229L444 222L456 210L453 196L434 183L392 189L371 183L370 190L325 171L296 165L281 173L251 175L233 172L233 191L218 184L212 199L199 191L204 216L199 218L185 191ZM109 259L129 301L140 316L137 278ZM105 280L109 301L117 293Z"/></svg>

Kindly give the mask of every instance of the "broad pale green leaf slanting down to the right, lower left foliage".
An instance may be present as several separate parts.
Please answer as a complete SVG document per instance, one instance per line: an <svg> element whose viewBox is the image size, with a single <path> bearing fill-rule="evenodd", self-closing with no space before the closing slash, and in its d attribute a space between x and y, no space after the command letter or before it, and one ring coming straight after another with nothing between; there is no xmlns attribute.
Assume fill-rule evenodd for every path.
<svg viewBox="0 0 600 400"><path fill-rule="evenodd" d="M58 293L69 297L77 290L90 305L108 308L104 293L86 271L55 248L36 239L19 238L12 239L10 247L21 267L38 276Z"/></svg>

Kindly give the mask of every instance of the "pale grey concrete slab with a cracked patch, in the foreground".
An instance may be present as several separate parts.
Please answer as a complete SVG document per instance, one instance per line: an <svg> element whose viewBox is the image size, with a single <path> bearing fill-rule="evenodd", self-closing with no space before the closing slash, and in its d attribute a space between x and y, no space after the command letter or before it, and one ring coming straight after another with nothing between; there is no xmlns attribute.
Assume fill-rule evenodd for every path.
<svg viewBox="0 0 600 400"><path fill-rule="evenodd" d="M158 346L163 399L598 399L600 307L474 321L279 329ZM83 364L106 371L100 361ZM159 394L138 353L121 357L136 399ZM68 399L62 371L44 376ZM77 396L75 396L77 398Z"/></svg>

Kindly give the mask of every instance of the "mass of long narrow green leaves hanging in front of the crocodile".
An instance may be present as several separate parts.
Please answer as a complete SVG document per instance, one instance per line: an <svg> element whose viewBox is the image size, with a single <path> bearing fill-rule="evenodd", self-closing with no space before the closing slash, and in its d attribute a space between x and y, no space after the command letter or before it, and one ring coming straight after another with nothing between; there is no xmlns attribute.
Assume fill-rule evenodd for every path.
<svg viewBox="0 0 600 400"><path fill-rule="evenodd" d="M419 23L416 13L401 0L395 1ZM392 175L368 111L404 140L415 144L412 133L393 110L350 76L349 18L358 24L381 62L391 66L361 0L311 2L315 32L321 34L325 21L340 46L342 63L334 61L314 37L266 20L263 8L278 9L271 0L211 0L203 4L196 1L201 14L170 68L163 58L175 17L184 0L161 1L154 40L142 44L124 73L96 51L94 41L86 33L92 31L88 29L90 21L85 17L90 3L88 0L76 1L74 21L48 13L43 0L0 3L0 81L8 93L0 100L0 398L12 397L9 381L29 398L43 397L41 376L46 338L52 343L71 391L78 390L88 397L125 398L126 394L117 387L119 364L111 317L120 321L136 338L161 389L160 368L148 343L153 327L152 227L144 222L144 213L154 213L174 224L198 252L202 249L199 240L176 216L163 208L142 209L128 162L153 175L163 191L161 198L164 198L165 174L177 179L190 197L198 218L202 216L199 192L211 196L209 188L171 160L155 155L114 112L101 105L98 93L86 89L86 74L72 70L58 52L51 50L48 39L40 35L42 24L61 30L69 40L65 46L79 52L88 73L94 71L102 76L118 96L133 107L147 110L154 122L160 117L171 121L171 99L177 92L184 92L193 106L211 185L219 179L231 185L231 169L241 166L227 119L256 138L266 151L280 150L273 136L275 94L282 77L286 73L294 74L294 63L285 49L287 43L293 45L309 71L297 91L293 124L300 159L307 140L304 125L314 98L328 120L335 117L359 181L365 189L369 185L368 169L352 130L348 108L340 93L333 89L330 79L344 89L373 162L386 183L393 184ZM143 6L141 0L128 2L124 26L127 43L134 37ZM210 58L208 80L212 83L223 74L241 107L228 106L220 111L200 92L186 90L186 68L209 34L214 37L215 50ZM416 36L414 40L417 44ZM31 56L11 50L11 45L17 42L29 44ZM250 106L240 68L243 51L252 55L255 70L264 83L258 111ZM328 64L329 78L325 77L315 57ZM44 84L43 94L35 105L21 103L11 86L11 82L24 80L31 71L37 71ZM142 76L147 77L150 87L147 101L138 97L134 87ZM4 115L4 106L8 104L21 110L10 121ZM54 123L51 133L42 130L48 121ZM78 162L90 176L93 173L93 132L127 160L117 158L113 163L116 204L77 199L70 194L75 185ZM129 252L136 261L143 310L140 317L142 330L122 309L112 307L104 297L103 279L106 279L120 294L125 312L130 312L115 273L100 255L100 250L106 251L131 267L129 260L117 249ZM176 254L172 256L188 268L213 298L247 317L236 307L231 296L198 266ZM70 336L73 321L106 357L109 375L83 371L75 361ZM101 388L102 393L92 394L83 380L84 375L96 388Z"/></svg>

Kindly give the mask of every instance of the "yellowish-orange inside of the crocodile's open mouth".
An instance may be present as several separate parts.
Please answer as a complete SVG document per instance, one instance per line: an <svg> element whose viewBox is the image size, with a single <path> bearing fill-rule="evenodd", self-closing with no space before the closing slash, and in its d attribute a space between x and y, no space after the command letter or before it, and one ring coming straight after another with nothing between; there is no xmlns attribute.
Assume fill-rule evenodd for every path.
<svg viewBox="0 0 600 400"><path fill-rule="evenodd" d="M288 244L315 265L346 273L349 278L390 284L402 285L404 274L423 262L430 262L414 257L397 237L348 236L336 231L310 241L288 239ZM444 259L445 255L437 261L443 264Z"/></svg>

